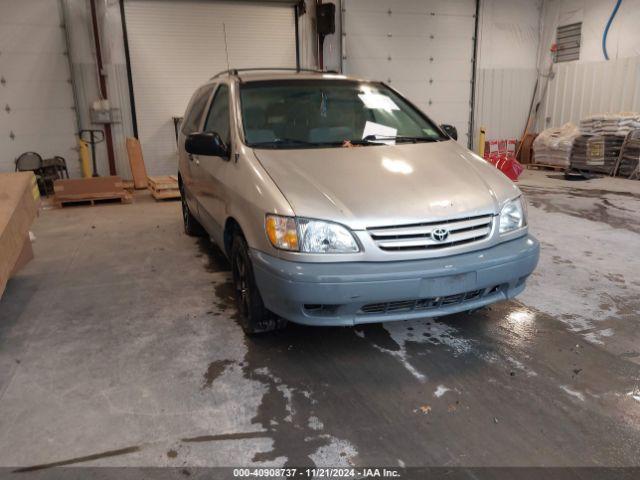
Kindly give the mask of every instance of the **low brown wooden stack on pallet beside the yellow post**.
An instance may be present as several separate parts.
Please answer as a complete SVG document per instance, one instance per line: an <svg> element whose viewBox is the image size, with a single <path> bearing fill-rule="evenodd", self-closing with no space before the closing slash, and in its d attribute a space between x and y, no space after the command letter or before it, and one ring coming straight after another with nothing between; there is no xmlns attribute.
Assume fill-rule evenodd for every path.
<svg viewBox="0 0 640 480"><path fill-rule="evenodd" d="M118 176L73 178L53 182L54 204L62 207L73 203L91 203L101 200L120 200L130 203L131 195L124 189Z"/></svg>

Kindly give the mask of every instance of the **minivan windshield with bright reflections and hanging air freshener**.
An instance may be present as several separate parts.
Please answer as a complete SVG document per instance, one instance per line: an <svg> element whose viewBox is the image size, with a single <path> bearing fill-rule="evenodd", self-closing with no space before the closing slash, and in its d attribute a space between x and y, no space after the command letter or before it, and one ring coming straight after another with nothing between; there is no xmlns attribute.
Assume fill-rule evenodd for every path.
<svg viewBox="0 0 640 480"><path fill-rule="evenodd" d="M245 141L255 148L317 148L446 140L382 84L271 80L240 84Z"/></svg>

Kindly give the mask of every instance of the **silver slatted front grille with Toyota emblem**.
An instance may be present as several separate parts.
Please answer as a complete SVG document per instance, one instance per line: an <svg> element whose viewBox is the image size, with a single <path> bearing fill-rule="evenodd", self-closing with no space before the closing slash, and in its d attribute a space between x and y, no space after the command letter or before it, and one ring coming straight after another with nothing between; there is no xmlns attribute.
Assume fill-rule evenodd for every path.
<svg viewBox="0 0 640 480"><path fill-rule="evenodd" d="M367 231L381 250L432 250L484 240L491 233L492 222L493 215L480 215L440 222L375 227ZM438 231L446 231L445 238L438 238ZM433 235L434 232L436 235Z"/></svg>

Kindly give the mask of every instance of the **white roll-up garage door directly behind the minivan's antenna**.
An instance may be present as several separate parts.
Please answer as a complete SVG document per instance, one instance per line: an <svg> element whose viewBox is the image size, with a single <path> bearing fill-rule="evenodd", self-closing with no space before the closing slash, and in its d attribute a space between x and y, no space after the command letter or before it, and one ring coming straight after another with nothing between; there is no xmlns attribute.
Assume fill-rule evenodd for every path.
<svg viewBox="0 0 640 480"><path fill-rule="evenodd" d="M172 117L184 114L196 88L229 65L295 67L290 4L127 0L138 135L150 175L175 174ZM224 24L224 28L223 28Z"/></svg>

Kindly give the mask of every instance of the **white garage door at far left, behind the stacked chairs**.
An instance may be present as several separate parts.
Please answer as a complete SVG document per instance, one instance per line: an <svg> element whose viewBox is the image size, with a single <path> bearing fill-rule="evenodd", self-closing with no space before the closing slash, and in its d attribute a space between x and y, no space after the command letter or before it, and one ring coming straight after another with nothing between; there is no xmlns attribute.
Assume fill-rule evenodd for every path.
<svg viewBox="0 0 640 480"><path fill-rule="evenodd" d="M78 174L76 120L59 3L0 0L0 171L34 151Z"/></svg>

